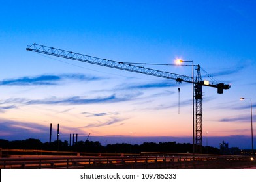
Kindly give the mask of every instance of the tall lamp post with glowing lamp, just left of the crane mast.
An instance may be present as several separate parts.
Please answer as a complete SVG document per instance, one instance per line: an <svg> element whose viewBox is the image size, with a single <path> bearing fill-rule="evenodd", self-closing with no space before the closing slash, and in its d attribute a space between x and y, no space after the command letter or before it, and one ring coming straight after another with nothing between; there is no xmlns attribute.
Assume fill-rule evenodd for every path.
<svg viewBox="0 0 256 182"><path fill-rule="evenodd" d="M190 60L190 61L184 61L181 59L176 60L177 64L181 64L182 62L192 62L192 65L184 65L184 66L192 66L192 124L193 124L193 145L192 145L192 151L193 151L193 155L195 154L195 84L194 84L194 60Z"/></svg>

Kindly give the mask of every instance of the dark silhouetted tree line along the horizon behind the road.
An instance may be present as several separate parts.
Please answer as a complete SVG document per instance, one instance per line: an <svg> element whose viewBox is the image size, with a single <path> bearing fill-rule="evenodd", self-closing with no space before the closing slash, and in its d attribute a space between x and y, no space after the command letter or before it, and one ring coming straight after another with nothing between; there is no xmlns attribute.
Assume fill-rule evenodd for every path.
<svg viewBox="0 0 256 182"><path fill-rule="evenodd" d="M67 140L56 140L54 142L41 142L38 139L8 141L0 139L0 148L4 149L40 149L51 151L76 151L88 153L141 153L141 152L163 152L163 153L192 153L192 144L176 142L144 142L143 144L108 144L101 145L100 142L78 141L72 146ZM219 154L220 150L211 146L202 146L202 153Z"/></svg>

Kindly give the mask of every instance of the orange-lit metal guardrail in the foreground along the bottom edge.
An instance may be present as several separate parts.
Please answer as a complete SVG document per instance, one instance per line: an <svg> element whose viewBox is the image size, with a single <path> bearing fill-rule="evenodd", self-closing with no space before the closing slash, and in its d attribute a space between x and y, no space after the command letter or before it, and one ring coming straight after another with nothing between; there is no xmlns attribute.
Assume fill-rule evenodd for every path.
<svg viewBox="0 0 256 182"><path fill-rule="evenodd" d="M249 156L22 157L1 158L0 168L241 168Z"/></svg>

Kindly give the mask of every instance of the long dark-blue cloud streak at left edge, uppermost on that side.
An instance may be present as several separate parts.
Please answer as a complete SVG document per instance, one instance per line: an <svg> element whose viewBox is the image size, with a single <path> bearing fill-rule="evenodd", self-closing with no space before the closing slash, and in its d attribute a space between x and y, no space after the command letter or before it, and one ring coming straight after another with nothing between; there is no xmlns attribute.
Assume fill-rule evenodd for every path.
<svg viewBox="0 0 256 182"><path fill-rule="evenodd" d="M73 79L77 81L95 81L103 78L90 76L90 75L83 75L83 74L37 75L35 77L20 77L16 79L5 79L3 81L0 81L0 85L10 85L10 86L57 85L59 81L63 81L65 79Z"/></svg>

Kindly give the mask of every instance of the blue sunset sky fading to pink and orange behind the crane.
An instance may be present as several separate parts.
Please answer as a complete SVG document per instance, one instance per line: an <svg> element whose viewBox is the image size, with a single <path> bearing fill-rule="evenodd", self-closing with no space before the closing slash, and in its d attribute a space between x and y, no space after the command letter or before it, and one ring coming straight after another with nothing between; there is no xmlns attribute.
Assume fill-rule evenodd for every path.
<svg viewBox="0 0 256 182"><path fill-rule="evenodd" d="M207 137L212 146L225 140L250 148L250 103L239 98L251 98L255 107L255 5L1 1L0 138L45 142L50 123L59 123L61 140L69 133L85 140L91 133L102 144L191 142L191 84L25 50L35 42L120 62L194 60L218 82L231 84L224 94L203 88L202 144ZM191 76L190 66L147 67ZM202 77L208 79L204 72Z"/></svg>

